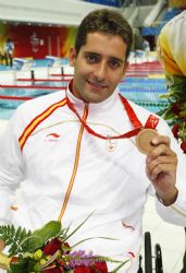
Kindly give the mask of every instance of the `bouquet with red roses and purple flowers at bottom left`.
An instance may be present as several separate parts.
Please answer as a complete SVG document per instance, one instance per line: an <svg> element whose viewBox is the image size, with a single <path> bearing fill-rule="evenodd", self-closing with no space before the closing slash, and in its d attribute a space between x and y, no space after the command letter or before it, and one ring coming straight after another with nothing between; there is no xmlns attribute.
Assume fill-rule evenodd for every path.
<svg viewBox="0 0 186 273"><path fill-rule="evenodd" d="M33 233L22 227L16 229L13 225L0 226L1 250L9 246L8 254L0 252L0 268L8 273L107 273L107 262L113 262L116 265L112 272L117 272L128 260L117 261L92 252L74 250L80 242L92 238L78 241L74 246L67 244L67 239L87 218L72 233L70 227L62 228L58 221L51 221Z"/></svg>

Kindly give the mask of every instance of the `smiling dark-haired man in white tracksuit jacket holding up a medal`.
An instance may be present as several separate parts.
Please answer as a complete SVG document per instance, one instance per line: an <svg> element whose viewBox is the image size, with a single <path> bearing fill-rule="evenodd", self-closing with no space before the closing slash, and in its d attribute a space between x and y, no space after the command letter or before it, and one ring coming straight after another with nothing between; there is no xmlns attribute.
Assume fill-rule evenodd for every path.
<svg viewBox="0 0 186 273"><path fill-rule="evenodd" d="M169 126L119 94L132 37L115 11L94 11L83 20L70 51L74 79L66 91L23 104L1 138L0 215L2 223L35 229L57 218L77 226L94 212L70 245L114 238L80 248L129 257L121 272L136 273L148 193L165 221L186 224L186 162ZM154 129L159 135L145 155L136 135ZM15 207L11 198L20 185Z"/></svg>

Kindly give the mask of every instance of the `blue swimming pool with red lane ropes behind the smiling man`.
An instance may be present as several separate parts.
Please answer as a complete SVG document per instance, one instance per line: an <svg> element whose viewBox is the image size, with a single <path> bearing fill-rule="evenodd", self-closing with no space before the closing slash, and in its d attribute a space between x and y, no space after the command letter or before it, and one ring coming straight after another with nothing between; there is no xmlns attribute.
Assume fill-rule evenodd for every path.
<svg viewBox="0 0 186 273"><path fill-rule="evenodd" d="M45 64L48 66L46 60ZM25 76L25 79L17 76L14 85L0 86L0 119L10 119L16 107L26 99L65 88L73 76L72 68L70 69L67 64L66 67L64 64L63 69L58 68L58 73L46 70L44 60L37 62L37 66L42 68L35 71L34 79L30 78L29 71L28 75L21 73L22 78ZM30 79L26 79L26 76ZM126 78L120 82L119 87L126 98L152 112L157 112L168 105L166 99L160 98L160 95L168 91L163 72L158 62L131 64Z"/></svg>

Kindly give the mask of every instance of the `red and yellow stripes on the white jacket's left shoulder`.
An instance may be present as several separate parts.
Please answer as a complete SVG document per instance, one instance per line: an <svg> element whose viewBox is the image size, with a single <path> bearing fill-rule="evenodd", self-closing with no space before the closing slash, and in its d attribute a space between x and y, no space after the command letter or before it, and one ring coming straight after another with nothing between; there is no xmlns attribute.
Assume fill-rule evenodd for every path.
<svg viewBox="0 0 186 273"><path fill-rule="evenodd" d="M21 151L23 150L27 139L34 132L34 130L45 120L47 119L55 109L59 107L63 107L66 104L66 97L62 100L49 106L45 111L34 118L29 124L25 128L24 132L18 139Z"/></svg>

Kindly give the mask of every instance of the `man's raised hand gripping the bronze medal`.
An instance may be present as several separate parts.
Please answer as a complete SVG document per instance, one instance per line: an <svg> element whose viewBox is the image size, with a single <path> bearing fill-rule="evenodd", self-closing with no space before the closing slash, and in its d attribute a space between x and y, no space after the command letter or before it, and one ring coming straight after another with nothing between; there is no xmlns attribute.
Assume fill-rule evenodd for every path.
<svg viewBox="0 0 186 273"><path fill-rule="evenodd" d="M154 149L147 155L146 171L151 180L158 197L164 205L171 205L177 198L176 154L170 149L170 139L164 135L152 140Z"/></svg>

